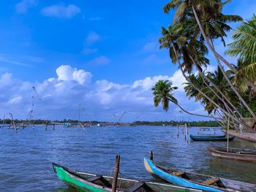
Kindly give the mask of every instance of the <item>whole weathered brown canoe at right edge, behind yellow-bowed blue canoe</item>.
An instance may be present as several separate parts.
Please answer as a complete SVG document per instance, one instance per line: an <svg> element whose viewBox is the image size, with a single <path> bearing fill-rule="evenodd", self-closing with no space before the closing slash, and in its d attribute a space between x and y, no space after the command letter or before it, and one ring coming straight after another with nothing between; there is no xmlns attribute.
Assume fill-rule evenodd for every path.
<svg viewBox="0 0 256 192"><path fill-rule="evenodd" d="M256 150L243 150L236 148L217 149L214 147L208 147L208 151L211 155L219 158L228 158L239 161L251 161L256 163Z"/></svg>

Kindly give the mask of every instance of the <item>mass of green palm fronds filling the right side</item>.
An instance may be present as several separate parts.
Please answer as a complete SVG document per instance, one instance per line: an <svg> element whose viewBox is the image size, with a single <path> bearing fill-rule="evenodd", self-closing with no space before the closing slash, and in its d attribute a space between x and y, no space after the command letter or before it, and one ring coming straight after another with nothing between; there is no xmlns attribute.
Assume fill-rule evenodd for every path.
<svg viewBox="0 0 256 192"><path fill-rule="evenodd" d="M246 127L245 117L256 121L256 17L253 15L251 20L241 23L234 31L234 42L228 45L226 54L238 57L238 62L236 65L230 64L214 47L216 40L226 46L224 37L232 29L228 23L243 20L238 15L225 15L222 12L222 7L228 2L169 1L163 8L164 12L168 14L174 9L176 14L172 25L162 27L159 44L160 49L169 50L171 61L181 69L187 80L185 91L189 99L200 102L220 126L227 126L230 119L231 126L238 129L240 124ZM208 50L213 53L217 65L214 72L206 70L214 64L207 58ZM162 93L156 93L157 86L162 83L164 81L159 81L152 88L154 104L157 107L162 102L163 109L168 110L168 101L177 105L178 101L170 97L175 89L171 86L166 88L168 84L171 85L170 82L162 85Z"/></svg>

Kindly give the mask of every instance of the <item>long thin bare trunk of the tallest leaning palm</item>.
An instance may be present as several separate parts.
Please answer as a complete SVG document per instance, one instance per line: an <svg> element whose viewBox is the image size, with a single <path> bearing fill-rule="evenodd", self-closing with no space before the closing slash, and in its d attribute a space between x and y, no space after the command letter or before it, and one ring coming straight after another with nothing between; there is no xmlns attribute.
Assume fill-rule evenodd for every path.
<svg viewBox="0 0 256 192"><path fill-rule="evenodd" d="M206 37L206 33L204 32L203 30L203 26L201 25L200 23L200 20L197 16L197 12L195 11L195 7L192 5L192 10L193 10L193 13L195 15L195 20L197 21L197 24L200 28L200 31L201 33L203 34L203 37L204 39L206 40L206 44L208 45L208 47L210 48L210 50L214 53L214 56L217 60L217 63L218 63L218 66L219 66L219 69L221 69L222 71L222 74L224 75L225 79L227 80L228 84L230 85L230 88L236 93L236 95L238 96L238 98L240 99L240 101L244 104L244 107L246 107L246 109L249 111L249 113L252 115L253 118L255 118L256 120L256 115L255 115L255 112L252 111L252 109L249 107L249 105L246 103L246 101L244 101L243 97L240 95L240 93L238 93L238 91L236 90L236 88L233 86L233 84L230 82L229 78L227 77L227 74L225 73L222 65L220 64L219 62L219 59L223 59L222 61L228 66L230 67L231 70L235 70L233 72L236 72L236 69L230 65L224 58L222 58L221 55L219 55L215 50L214 50L214 47L212 47Z"/></svg>

